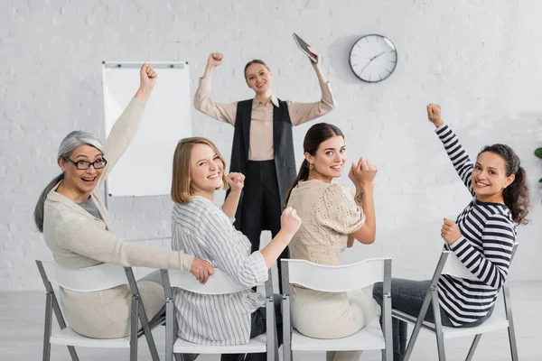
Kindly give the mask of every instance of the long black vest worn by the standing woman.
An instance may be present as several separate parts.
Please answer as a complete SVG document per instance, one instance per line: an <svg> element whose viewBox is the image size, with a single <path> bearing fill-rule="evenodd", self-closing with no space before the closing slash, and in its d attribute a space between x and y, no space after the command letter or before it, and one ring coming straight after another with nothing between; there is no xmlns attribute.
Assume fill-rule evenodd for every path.
<svg viewBox="0 0 542 361"><path fill-rule="evenodd" d="M247 174L252 101L253 99L248 99L238 102L229 171L238 171ZM297 173L295 171L292 121L290 120L288 105L280 99L278 100L278 106L273 106L273 147L275 150L278 192L281 204L284 204L286 192L294 183ZM241 196L235 221L238 229L240 227L240 218L242 217L240 212L242 202L243 198Z"/></svg>

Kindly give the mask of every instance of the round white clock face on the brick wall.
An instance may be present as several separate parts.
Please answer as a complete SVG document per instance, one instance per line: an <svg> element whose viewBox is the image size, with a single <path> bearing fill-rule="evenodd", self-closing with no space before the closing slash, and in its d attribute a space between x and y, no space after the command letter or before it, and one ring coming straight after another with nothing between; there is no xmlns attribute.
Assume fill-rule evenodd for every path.
<svg viewBox="0 0 542 361"><path fill-rule="evenodd" d="M396 65L396 47L382 35L363 36L350 50L350 68L358 78L369 83L388 78Z"/></svg>

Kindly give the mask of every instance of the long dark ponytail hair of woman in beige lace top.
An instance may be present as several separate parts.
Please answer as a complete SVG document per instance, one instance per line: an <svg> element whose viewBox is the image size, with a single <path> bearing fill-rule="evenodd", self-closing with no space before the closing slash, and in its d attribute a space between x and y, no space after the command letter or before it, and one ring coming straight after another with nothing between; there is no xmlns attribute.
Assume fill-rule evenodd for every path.
<svg viewBox="0 0 542 361"><path fill-rule="evenodd" d="M317 123L311 126L307 131L307 134L305 134L303 141L303 152L315 155L322 142L325 142L337 135L341 135L341 137L344 138L344 134L342 134L341 129L339 129L338 126L328 123ZM288 204L290 194L297 183L299 183L300 180L307 180L307 178L309 178L309 171L311 171L311 165L306 159L304 159L303 163L301 163L301 168L297 173L297 178L294 180L294 184L292 184L292 187L290 187L286 193L285 205Z"/></svg>

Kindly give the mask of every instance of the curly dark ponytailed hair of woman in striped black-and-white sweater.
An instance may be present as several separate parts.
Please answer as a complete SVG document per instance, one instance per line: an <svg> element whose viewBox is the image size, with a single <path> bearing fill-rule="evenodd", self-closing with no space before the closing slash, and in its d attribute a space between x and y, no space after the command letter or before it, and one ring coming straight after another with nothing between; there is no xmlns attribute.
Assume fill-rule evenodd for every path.
<svg viewBox="0 0 542 361"><path fill-rule="evenodd" d="M515 180L504 189L502 197L504 204L512 212L513 221L519 225L527 225L527 215L530 208L527 174L521 167L518 154L505 144L486 145L478 155L484 152L500 155L505 163L506 176L509 177L511 174L516 176Z"/></svg>

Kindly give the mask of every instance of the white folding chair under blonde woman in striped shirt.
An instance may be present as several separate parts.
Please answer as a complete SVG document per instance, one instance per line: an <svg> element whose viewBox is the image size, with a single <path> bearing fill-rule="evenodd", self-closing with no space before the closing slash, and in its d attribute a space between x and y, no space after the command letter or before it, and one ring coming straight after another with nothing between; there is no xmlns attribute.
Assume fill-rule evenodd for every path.
<svg viewBox="0 0 542 361"><path fill-rule="evenodd" d="M248 345L207 346L194 344L178 338L177 322L174 315L172 287L200 294L228 294L246 290L234 282L228 273L215 269L205 284L201 284L192 273L185 271L162 270L165 293L165 360L182 360L179 354L267 354L267 361L278 361L276 339L275 306L273 302L273 281L271 272L266 281L266 329L267 332L257 338L250 339Z"/></svg>

